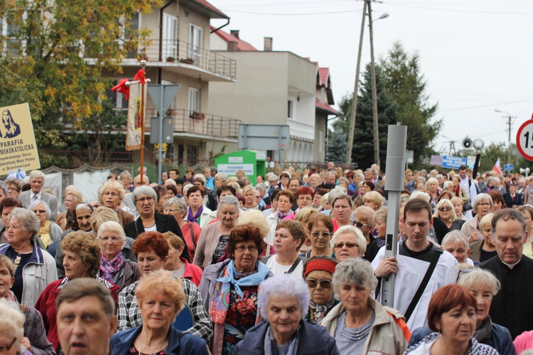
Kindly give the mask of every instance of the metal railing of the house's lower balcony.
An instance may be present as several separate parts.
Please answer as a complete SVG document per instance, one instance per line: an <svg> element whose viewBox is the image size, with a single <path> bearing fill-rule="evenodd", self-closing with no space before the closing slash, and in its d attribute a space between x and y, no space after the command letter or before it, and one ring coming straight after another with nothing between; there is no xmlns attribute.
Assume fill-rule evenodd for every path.
<svg viewBox="0 0 533 355"><path fill-rule="evenodd" d="M150 117L158 116L155 109L146 109L146 131L150 131ZM212 114L203 114L203 119L193 119L190 111L183 109L173 109L167 112L166 116L174 118L174 133L190 133L202 136L212 136L217 138L237 139L239 135L239 124L241 120L230 119Z"/></svg>

